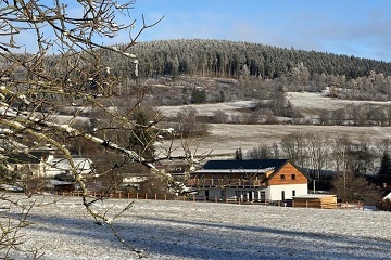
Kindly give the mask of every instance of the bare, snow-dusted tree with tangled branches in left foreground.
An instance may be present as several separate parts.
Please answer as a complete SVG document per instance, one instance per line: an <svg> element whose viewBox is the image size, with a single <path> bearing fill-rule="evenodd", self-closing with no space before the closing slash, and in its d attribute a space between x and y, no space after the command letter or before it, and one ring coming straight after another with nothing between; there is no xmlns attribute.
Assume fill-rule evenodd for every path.
<svg viewBox="0 0 391 260"><path fill-rule="evenodd" d="M109 218L108 212L96 210L94 203L103 198L89 197L88 183L90 178L105 176L121 165L113 164L106 171L84 174L73 159L70 140L79 139L106 151L121 153L128 162L142 164L152 173L164 178L174 192L186 192L185 185L154 167L159 158L144 157L144 153L151 151L150 147L162 131L159 130L159 114L149 121L137 121L134 118L144 92L135 93L135 105L125 110L118 109L112 99L118 86L126 88L124 82L131 80L128 80L128 75L122 75L119 70L112 68L105 56L111 53L118 58L127 58L128 64L134 66L133 76L137 77L138 60L131 53L131 48L144 29L160 22L147 24L142 17L140 29L135 30L135 20L124 22L129 21L134 3L134 0L0 2L1 138L13 144L8 148L1 147L1 157L7 164L15 153L31 156L30 152L41 146L54 147L68 161L88 212L98 223L109 224L113 232L112 220L118 214ZM128 34L129 41L121 48L102 43L106 39L116 39L124 32ZM67 117L59 115L60 112L71 110L72 113ZM89 110L97 113L97 117L89 118L89 121L94 119L99 123L86 128L79 121L81 115ZM139 148L134 151L131 143L115 142L117 139L113 138L114 134L108 134L110 131L125 134L127 140L137 140ZM73 146L75 148L75 144ZM29 196L34 194L26 186L24 188ZM18 199L7 195L1 199L22 207ZM131 205L129 203L124 210ZM28 207L22 208L36 206L30 203ZM0 247L8 251L5 258L10 250L17 249L16 231L24 223L25 218L15 223L0 223L0 227L8 231L0 240ZM118 240L126 244L119 237ZM130 245L127 246L140 253Z"/></svg>

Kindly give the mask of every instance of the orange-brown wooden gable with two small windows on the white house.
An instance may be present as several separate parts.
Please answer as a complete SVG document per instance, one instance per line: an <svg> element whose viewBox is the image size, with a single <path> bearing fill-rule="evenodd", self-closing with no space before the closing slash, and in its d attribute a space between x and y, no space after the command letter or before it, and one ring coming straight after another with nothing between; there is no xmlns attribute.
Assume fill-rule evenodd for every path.
<svg viewBox="0 0 391 260"><path fill-rule="evenodd" d="M285 180L281 176L285 176ZM295 179L292 180L292 174ZM305 184L308 183L306 177L298 170L291 162L286 164L269 181L269 185L282 185L282 184Z"/></svg>

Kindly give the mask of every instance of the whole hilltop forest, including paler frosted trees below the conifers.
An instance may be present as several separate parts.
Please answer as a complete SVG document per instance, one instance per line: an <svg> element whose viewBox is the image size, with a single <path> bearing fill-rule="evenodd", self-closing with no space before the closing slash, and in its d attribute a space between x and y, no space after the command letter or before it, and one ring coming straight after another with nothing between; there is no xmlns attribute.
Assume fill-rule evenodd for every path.
<svg viewBox="0 0 391 260"><path fill-rule="evenodd" d="M116 46L118 50L124 46ZM104 52L104 51L103 51ZM113 72L124 80L180 76L238 79L264 91L319 92L345 100L391 100L391 63L316 51L277 48L227 40L160 40L139 42L135 65L118 54L105 53ZM273 83L270 84L270 81ZM245 87L245 86L244 86ZM250 93L250 96L254 93ZM239 99L242 96L239 96ZM215 102L213 100L212 102Z"/></svg>

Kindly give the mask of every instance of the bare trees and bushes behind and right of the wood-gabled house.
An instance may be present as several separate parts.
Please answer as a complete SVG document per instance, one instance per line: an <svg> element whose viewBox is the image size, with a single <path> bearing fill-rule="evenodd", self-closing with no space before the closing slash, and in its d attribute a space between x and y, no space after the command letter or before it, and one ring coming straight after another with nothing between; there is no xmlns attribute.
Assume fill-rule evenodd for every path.
<svg viewBox="0 0 391 260"><path fill-rule="evenodd" d="M342 202L374 205L384 195L381 187L391 184L390 145L389 139L374 142L363 136L354 142L348 135L298 131L245 153L237 148L235 158L288 158L315 181L316 190L331 191Z"/></svg>

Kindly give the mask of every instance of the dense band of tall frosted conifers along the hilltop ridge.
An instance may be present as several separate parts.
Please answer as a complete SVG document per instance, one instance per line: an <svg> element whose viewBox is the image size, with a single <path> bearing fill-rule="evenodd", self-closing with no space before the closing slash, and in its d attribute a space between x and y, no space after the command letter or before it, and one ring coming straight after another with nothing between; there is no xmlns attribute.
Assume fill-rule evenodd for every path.
<svg viewBox="0 0 391 260"><path fill-rule="evenodd" d="M391 73L391 64L381 61L227 40L139 42L134 52L140 57L142 77L186 74L239 78L245 66L250 76L273 79L288 76L299 64L307 68L310 77L344 75L349 80L371 72Z"/></svg>

